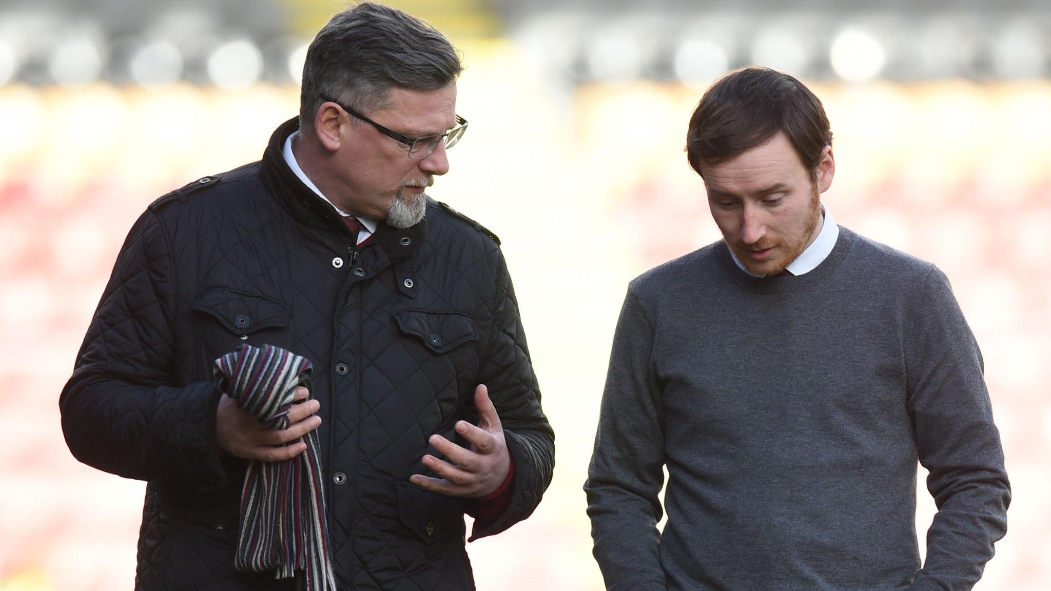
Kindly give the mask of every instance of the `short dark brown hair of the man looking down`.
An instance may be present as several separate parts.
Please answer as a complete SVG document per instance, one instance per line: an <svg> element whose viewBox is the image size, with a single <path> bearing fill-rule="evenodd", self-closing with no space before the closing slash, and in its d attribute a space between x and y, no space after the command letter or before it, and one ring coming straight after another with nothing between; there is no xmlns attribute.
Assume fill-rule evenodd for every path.
<svg viewBox="0 0 1051 591"><path fill-rule="evenodd" d="M701 97L686 133L686 158L718 164L784 131L811 179L832 131L821 101L802 82L767 67L746 67L717 80ZM703 175L702 175L703 176Z"/></svg>

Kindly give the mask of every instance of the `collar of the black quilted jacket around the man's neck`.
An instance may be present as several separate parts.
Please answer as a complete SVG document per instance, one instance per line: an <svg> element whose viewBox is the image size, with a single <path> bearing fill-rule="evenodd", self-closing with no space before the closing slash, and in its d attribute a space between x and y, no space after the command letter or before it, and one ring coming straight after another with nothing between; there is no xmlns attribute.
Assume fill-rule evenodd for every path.
<svg viewBox="0 0 1051 591"><path fill-rule="evenodd" d="M300 128L297 117L282 123L263 152L261 172L267 188L301 224L316 229L335 230L350 240L350 231L339 212L295 176L285 162L285 140ZM383 249L387 259L397 261L410 256L427 240L427 218L410 228L395 228L380 221L370 244Z"/></svg>

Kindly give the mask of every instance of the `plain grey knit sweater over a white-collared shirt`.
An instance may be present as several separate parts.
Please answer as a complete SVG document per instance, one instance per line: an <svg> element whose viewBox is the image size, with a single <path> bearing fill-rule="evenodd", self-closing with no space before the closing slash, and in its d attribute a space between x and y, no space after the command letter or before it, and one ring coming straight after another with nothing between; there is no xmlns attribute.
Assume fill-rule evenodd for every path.
<svg viewBox="0 0 1051 591"><path fill-rule="evenodd" d="M971 589L1010 502L982 371L945 274L846 228L800 277L750 278L723 242L644 273L584 485L606 588Z"/></svg>

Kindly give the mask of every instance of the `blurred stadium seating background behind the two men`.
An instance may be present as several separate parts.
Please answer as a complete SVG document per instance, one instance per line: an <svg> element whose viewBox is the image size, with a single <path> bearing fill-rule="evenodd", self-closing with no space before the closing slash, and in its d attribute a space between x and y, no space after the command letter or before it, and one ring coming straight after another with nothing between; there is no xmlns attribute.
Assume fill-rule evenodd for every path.
<svg viewBox="0 0 1051 591"><path fill-rule="evenodd" d="M686 121L751 63L825 102L837 221L952 281L1014 487L976 589L1051 589L1051 4L392 3L463 53L471 128L432 195L502 238L558 433L536 514L470 545L480 589L601 589L581 484L617 312L631 278L718 238ZM143 485L69 455L59 391L132 221L261 156L341 7L0 1L0 590L131 588ZM922 484L920 500L922 544Z"/></svg>

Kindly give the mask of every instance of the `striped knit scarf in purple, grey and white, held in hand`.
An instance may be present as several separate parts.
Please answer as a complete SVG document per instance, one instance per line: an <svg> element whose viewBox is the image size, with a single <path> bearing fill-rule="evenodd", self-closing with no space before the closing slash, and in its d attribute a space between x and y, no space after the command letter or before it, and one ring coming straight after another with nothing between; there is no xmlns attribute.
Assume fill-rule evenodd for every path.
<svg viewBox="0 0 1051 591"><path fill-rule="evenodd" d="M310 371L306 358L247 344L215 360L213 368L220 389L273 430L288 428L295 387L309 387ZM276 570L275 578L304 570L301 589L334 591L316 431L306 443L307 451L289 461L248 464L235 566L242 572Z"/></svg>

